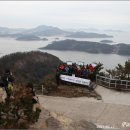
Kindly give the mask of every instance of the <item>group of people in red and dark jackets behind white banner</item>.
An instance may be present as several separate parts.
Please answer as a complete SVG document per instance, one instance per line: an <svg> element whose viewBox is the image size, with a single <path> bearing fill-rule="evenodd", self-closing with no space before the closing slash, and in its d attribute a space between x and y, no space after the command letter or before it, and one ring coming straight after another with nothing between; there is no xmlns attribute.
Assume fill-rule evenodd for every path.
<svg viewBox="0 0 130 130"><path fill-rule="evenodd" d="M67 63L61 63L57 67L57 71L60 74L65 75L75 75L76 77L85 78L85 79L91 79L91 75L95 71L96 64L87 64L85 65L77 65L76 63L73 63L72 65L68 65Z"/></svg>

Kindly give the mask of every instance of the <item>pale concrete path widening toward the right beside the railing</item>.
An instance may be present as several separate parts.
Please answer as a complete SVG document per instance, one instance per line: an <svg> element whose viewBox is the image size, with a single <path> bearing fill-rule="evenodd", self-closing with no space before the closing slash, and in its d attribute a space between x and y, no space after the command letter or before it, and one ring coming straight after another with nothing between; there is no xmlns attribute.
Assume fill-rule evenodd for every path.
<svg viewBox="0 0 130 130"><path fill-rule="evenodd" d="M39 96L39 99L42 106L49 111L63 114L73 120L84 119L103 128L126 128L122 123L130 124L130 94L114 92L100 86L96 91L102 95L102 101L87 97Z"/></svg>

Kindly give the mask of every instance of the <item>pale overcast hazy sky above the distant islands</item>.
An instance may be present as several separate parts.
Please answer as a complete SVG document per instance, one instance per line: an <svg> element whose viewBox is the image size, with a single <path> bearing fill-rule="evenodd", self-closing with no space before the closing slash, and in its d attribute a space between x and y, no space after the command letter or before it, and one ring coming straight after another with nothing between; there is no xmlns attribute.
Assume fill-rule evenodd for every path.
<svg viewBox="0 0 130 130"><path fill-rule="evenodd" d="M0 26L130 29L130 1L0 1Z"/></svg>

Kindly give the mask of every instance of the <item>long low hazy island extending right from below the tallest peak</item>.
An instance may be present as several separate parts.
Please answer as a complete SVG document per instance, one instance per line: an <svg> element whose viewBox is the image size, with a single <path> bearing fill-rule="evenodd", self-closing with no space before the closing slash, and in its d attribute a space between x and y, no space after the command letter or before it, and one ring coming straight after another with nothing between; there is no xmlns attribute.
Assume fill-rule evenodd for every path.
<svg viewBox="0 0 130 130"><path fill-rule="evenodd" d="M66 37L72 38L113 38L111 35L98 34L98 33L86 33L86 32L74 32Z"/></svg>

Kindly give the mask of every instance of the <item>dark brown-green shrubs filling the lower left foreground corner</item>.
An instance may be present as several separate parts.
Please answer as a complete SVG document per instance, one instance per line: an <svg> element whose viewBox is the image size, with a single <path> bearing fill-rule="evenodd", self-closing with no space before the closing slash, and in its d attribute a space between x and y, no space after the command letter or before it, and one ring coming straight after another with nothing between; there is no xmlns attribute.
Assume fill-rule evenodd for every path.
<svg viewBox="0 0 130 130"><path fill-rule="evenodd" d="M0 128L29 128L39 118L40 110L33 111L31 91L20 88L14 93L14 99L0 103Z"/></svg>

